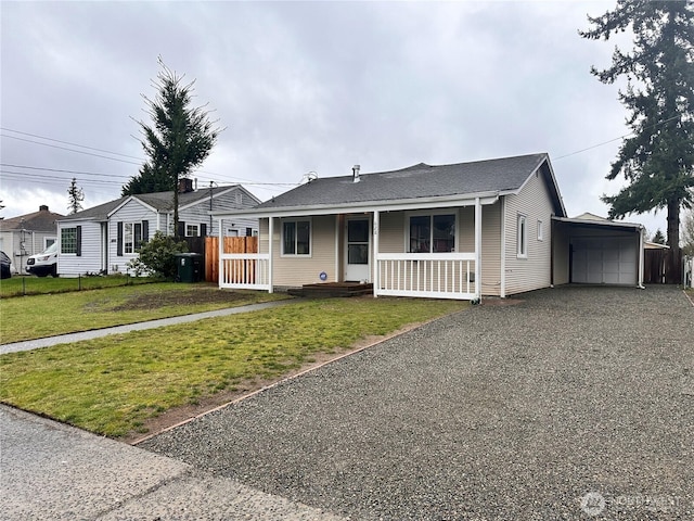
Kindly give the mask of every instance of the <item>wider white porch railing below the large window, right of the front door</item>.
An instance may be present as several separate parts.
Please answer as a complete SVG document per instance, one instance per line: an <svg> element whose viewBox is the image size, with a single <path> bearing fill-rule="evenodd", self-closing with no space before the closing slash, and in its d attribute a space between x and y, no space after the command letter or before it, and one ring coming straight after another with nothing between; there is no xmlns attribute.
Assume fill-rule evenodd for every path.
<svg viewBox="0 0 694 521"><path fill-rule="evenodd" d="M473 300L474 253L380 253L375 295Z"/></svg>

